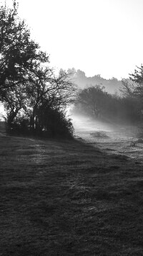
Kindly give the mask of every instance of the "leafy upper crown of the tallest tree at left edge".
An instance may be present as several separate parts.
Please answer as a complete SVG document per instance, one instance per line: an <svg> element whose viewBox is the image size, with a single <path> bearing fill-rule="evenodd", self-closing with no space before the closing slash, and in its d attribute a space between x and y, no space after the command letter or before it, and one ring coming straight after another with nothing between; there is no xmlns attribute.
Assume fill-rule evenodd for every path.
<svg viewBox="0 0 143 256"><path fill-rule="evenodd" d="M30 39L29 29L18 17L18 5L0 8L0 97L6 89L29 81L29 72L41 63L49 62L49 55L39 50Z"/></svg>

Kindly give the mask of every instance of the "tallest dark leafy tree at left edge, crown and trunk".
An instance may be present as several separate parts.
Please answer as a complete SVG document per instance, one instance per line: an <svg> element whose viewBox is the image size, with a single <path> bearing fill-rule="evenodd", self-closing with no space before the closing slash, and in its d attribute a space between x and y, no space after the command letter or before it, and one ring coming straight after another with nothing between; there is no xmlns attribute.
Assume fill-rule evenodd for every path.
<svg viewBox="0 0 143 256"><path fill-rule="evenodd" d="M6 4L0 9L0 99L9 123L26 106L24 98L34 71L41 68L41 63L49 63L49 55L31 40L17 9L15 0L12 9Z"/></svg>

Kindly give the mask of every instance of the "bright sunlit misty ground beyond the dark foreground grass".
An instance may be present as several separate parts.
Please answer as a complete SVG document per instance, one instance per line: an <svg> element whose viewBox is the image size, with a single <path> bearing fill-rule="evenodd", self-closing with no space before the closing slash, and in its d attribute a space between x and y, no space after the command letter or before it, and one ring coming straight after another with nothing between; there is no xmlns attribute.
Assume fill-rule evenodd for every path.
<svg viewBox="0 0 143 256"><path fill-rule="evenodd" d="M108 154L143 160L142 130L134 125L102 122L84 115L70 115L77 140L99 147Z"/></svg>

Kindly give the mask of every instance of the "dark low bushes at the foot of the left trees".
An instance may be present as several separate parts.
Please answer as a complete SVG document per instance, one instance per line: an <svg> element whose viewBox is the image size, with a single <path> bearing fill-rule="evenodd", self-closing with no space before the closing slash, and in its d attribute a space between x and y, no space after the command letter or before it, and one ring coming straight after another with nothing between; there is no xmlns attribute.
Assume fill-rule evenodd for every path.
<svg viewBox="0 0 143 256"><path fill-rule="evenodd" d="M16 116L8 126L8 132L52 138L71 138L74 127L63 111L41 106L36 110L34 127L31 116Z"/></svg>

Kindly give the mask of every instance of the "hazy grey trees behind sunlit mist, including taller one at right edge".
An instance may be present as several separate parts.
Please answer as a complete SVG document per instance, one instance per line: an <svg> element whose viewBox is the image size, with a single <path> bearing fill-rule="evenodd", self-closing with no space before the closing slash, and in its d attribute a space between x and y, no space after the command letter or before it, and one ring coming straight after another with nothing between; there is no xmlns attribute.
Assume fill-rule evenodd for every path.
<svg viewBox="0 0 143 256"><path fill-rule="evenodd" d="M109 94L99 85L81 89L73 111L114 122L142 122L143 65L122 80L120 91L122 95Z"/></svg>

